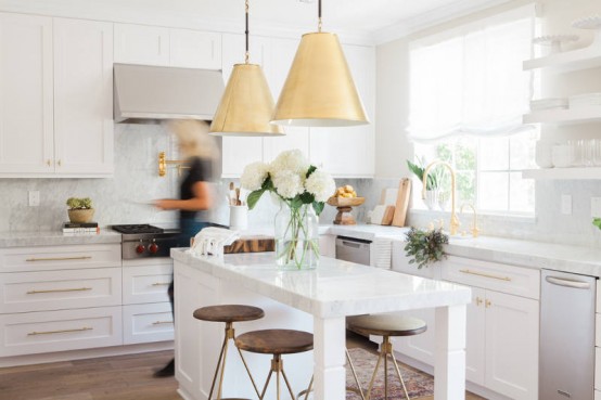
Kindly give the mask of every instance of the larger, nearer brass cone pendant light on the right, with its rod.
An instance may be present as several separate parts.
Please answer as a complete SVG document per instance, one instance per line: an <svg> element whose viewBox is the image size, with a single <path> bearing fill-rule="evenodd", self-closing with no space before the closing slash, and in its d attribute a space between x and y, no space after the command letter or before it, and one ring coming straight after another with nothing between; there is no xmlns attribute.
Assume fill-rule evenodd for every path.
<svg viewBox="0 0 601 400"><path fill-rule="evenodd" d="M303 35L271 124L345 127L369 124L338 37L321 31Z"/></svg>

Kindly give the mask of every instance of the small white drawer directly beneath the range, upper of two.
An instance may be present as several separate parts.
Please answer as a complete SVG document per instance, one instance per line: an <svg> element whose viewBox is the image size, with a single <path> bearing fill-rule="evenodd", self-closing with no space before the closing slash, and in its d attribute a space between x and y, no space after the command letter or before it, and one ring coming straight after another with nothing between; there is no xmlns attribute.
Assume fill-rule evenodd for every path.
<svg viewBox="0 0 601 400"><path fill-rule="evenodd" d="M167 288L172 275L171 262L158 266L124 267L124 305L169 301Z"/></svg>

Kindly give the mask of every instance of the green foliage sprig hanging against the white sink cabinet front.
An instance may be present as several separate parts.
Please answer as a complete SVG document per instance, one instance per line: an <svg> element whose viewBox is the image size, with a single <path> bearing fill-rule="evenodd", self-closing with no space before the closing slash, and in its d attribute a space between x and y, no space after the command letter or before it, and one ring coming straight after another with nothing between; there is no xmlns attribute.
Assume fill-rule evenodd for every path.
<svg viewBox="0 0 601 400"><path fill-rule="evenodd" d="M418 269L429 267L446 257L443 245L449 243L449 236L443 233L440 228L422 231L411 227L406 236L405 254L411 258L409 263L417 263Z"/></svg>

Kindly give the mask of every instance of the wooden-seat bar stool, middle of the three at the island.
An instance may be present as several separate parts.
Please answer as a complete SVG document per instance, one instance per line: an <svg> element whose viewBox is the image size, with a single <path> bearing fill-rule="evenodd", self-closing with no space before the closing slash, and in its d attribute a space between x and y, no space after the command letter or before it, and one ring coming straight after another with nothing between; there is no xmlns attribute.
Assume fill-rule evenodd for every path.
<svg viewBox="0 0 601 400"><path fill-rule="evenodd" d="M263 391L259 396L259 400L263 400L269 386L271 375L276 373L277 377L277 399L280 400L280 373L282 374L286 384L291 398L294 400L294 392L292 386L284 372L284 365L282 354L294 354L298 352L309 351L314 348L314 335L308 332L293 331L293 330L264 330L254 331L242 334L235 338L235 346L239 349L261 353L273 354L271 359L271 369L267 380L263 387Z"/></svg>

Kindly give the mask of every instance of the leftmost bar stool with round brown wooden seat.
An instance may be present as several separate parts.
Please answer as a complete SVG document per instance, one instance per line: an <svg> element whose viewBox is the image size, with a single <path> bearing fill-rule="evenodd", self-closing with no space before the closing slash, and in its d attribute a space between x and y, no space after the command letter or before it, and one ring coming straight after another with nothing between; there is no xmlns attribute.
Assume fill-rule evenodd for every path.
<svg viewBox="0 0 601 400"><path fill-rule="evenodd" d="M226 323L226 335L223 337L223 344L221 345L221 351L219 352L217 366L215 367L215 375L213 376L213 383L210 384L210 391L208 392L208 400L210 400L213 398L213 390L215 389L215 383L217 382L217 375L219 375L219 370L221 370L221 374L219 377L219 388L217 389L217 399L221 399L221 389L223 386L223 372L226 370L226 358L228 354L228 343L230 339L235 340L235 332L233 328L233 323L261 319L265 317L265 311L263 311L263 309L258 307L253 307L253 306L222 305L222 306L208 306L208 307L199 308L194 311L193 315L196 320L201 320L201 321ZM255 384L255 379L253 379L253 375L251 375L248 365L246 365L246 360L244 360L244 356L242 356L242 351L240 351L240 349L238 349L238 353L242 359L242 363L244 364L244 367L248 373L248 377L253 383L253 387L255 388L257 396L259 396L259 391L258 391L257 385ZM221 400L228 400L228 399L221 399ZM229 400L244 400L244 399L229 399Z"/></svg>

